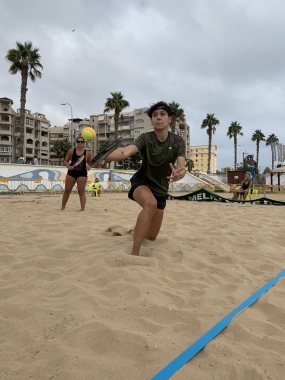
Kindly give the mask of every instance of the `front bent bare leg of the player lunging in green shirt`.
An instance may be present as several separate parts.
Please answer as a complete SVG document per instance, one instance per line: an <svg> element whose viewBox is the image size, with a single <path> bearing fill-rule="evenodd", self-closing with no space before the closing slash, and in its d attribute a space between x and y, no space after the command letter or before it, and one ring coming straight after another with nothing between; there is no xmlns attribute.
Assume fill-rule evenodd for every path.
<svg viewBox="0 0 285 380"><path fill-rule="evenodd" d="M134 230L134 243L132 255L139 255L140 248L144 237L149 231L153 216L157 211L157 201L147 186L139 186L134 191L135 201L142 207L137 217L137 223ZM161 222L160 222L161 225Z"/></svg>

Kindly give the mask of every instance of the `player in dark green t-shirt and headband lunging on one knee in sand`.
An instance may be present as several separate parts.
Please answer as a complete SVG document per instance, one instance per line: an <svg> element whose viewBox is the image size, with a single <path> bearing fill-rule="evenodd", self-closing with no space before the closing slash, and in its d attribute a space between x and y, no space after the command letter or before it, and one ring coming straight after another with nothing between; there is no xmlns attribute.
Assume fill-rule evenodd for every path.
<svg viewBox="0 0 285 380"><path fill-rule="evenodd" d="M129 198L142 207L134 229L132 255L139 255L144 238L156 239L162 224L168 186L185 175L185 141L169 132L172 109L167 103L158 102L147 114L151 118L153 132L141 134L131 145L117 149L106 159L122 161L138 151L143 157L140 169L131 178L129 191Z"/></svg>

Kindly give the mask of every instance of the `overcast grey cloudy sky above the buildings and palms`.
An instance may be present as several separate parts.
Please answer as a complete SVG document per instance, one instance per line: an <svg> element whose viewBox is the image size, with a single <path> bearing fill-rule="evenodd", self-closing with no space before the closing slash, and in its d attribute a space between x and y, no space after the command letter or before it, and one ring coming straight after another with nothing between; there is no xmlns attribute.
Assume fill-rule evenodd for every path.
<svg viewBox="0 0 285 380"><path fill-rule="evenodd" d="M20 106L20 74L4 57L15 42L40 49L42 79L28 83L26 108L52 126L73 116L102 113L110 91L131 108L159 100L180 103L191 145L207 144L207 113L220 120L213 143L218 169L234 163L232 121L243 127L238 144L255 153L261 129L285 144L284 0L9 0L0 12L0 97ZM76 29L72 32L72 29ZM238 148L238 161L243 146ZM276 162L277 164L277 162ZM271 165L261 144L260 166Z"/></svg>

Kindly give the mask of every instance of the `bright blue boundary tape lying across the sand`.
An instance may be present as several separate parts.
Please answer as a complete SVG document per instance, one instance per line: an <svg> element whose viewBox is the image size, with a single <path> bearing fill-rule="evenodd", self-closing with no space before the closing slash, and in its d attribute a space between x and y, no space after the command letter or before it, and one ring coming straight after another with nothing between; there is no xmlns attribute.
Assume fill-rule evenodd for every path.
<svg viewBox="0 0 285 380"><path fill-rule="evenodd" d="M226 315L220 322L213 326L209 331L201 336L189 348L182 352L177 358L170 362L160 372L158 372L151 380L166 380L169 379L175 372L177 372L185 363L193 358L202 348L204 348L213 338L215 338L221 331L223 331L232 320L246 308L256 302L264 293L272 288L281 277L285 277L285 270L280 272L276 277L270 280L256 293L250 296L246 301L240 304L236 309Z"/></svg>

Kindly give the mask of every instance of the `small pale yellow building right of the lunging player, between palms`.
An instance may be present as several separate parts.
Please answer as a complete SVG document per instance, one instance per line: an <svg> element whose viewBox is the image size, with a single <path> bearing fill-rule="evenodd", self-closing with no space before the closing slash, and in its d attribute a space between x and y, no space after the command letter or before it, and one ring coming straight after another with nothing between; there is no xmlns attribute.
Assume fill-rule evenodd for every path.
<svg viewBox="0 0 285 380"><path fill-rule="evenodd" d="M208 145L198 145L190 147L190 159L194 162L193 170L207 172L208 169ZM211 147L211 174L217 171L217 145Z"/></svg>

